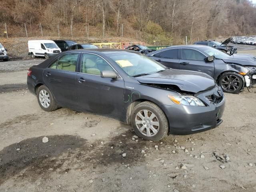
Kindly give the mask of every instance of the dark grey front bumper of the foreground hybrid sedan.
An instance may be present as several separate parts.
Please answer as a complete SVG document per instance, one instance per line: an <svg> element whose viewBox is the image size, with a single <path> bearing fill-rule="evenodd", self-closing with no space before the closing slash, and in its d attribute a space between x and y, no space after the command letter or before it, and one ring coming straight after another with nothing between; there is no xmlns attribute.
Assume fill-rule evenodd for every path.
<svg viewBox="0 0 256 192"><path fill-rule="evenodd" d="M222 121L222 114L225 109L225 98L222 90L222 101L217 105L210 103L205 97L218 94L219 88L216 86L210 91L197 95L208 106L183 106L173 104L163 106L169 120L170 134L187 135L210 130L219 126Z"/></svg>

